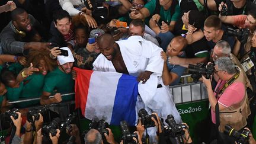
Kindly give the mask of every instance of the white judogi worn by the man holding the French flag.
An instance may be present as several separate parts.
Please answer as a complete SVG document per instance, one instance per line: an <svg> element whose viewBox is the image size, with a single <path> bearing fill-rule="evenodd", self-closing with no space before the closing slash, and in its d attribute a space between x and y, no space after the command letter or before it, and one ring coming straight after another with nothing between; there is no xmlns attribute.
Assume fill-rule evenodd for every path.
<svg viewBox="0 0 256 144"><path fill-rule="evenodd" d="M146 110L158 113L159 117L167 118L172 114L177 123L181 122L180 114L175 107L171 92L162 83L164 60L161 58L162 49L151 41L140 36L131 36L127 40L116 41L130 75L138 76L140 72L153 72L146 84L139 84L139 94ZM100 54L93 63L94 71L116 72L113 63ZM162 88L157 88L162 84Z"/></svg>

